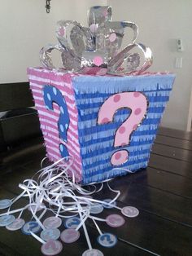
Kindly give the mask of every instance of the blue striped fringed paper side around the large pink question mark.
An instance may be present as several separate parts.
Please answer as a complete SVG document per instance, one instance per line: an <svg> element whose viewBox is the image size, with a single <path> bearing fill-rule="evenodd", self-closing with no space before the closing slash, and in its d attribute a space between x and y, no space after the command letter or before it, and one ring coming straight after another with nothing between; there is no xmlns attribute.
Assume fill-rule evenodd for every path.
<svg viewBox="0 0 192 256"><path fill-rule="evenodd" d="M78 109L78 135L81 146L82 183L99 182L103 179L127 174L146 168L151 146L159 121L168 101L174 75L151 75L137 77L73 77ZM98 110L103 102L116 93L141 91L149 102L146 118L133 132L129 145L114 148L116 130L129 117L129 109L116 113L114 121L98 125ZM118 149L129 151L129 161L122 166L111 166L111 155Z"/></svg>

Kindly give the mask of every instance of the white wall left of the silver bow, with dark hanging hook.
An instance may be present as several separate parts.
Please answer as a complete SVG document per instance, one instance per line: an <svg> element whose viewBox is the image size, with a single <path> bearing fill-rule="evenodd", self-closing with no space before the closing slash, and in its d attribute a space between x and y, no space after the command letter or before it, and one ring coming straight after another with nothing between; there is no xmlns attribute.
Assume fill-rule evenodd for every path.
<svg viewBox="0 0 192 256"><path fill-rule="evenodd" d="M57 42L58 20L87 24L87 10L106 5L107 0L54 0L50 14L46 0L0 1L0 83L27 81L26 68L39 66L39 51Z"/></svg>

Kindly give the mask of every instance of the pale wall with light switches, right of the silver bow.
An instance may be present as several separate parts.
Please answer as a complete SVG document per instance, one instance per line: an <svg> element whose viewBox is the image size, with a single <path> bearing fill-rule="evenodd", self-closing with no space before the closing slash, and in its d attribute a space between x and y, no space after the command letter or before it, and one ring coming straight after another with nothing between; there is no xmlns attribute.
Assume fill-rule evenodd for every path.
<svg viewBox="0 0 192 256"><path fill-rule="evenodd" d="M192 1L191 0L108 0L113 9L113 20L131 20L139 27L137 42L150 46L154 53L151 71L177 73L172 95L162 126L186 130L192 85ZM183 41L183 52L176 50L176 38ZM181 69L174 67L181 56Z"/></svg>

